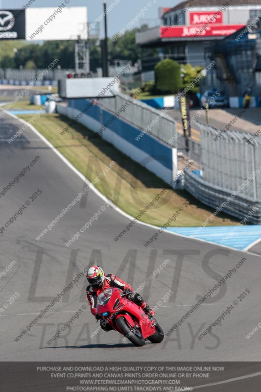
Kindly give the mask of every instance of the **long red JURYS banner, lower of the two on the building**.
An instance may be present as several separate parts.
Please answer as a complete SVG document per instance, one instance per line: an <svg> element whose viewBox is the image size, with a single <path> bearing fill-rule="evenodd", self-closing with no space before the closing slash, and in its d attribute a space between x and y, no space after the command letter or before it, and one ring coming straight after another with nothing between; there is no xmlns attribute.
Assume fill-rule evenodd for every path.
<svg viewBox="0 0 261 392"><path fill-rule="evenodd" d="M160 27L161 38L186 38L186 37L216 37L226 36L245 25L197 25L197 26L162 26Z"/></svg>

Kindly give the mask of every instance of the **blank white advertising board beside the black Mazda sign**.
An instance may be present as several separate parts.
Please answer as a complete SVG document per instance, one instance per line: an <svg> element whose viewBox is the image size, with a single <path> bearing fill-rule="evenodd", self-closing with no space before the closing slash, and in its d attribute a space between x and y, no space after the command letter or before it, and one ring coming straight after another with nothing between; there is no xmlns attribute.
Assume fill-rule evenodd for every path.
<svg viewBox="0 0 261 392"><path fill-rule="evenodd" d="M69 7L67 2L57 7L33 8L25 11L27 41L87 39L87 7Z"/></svg>

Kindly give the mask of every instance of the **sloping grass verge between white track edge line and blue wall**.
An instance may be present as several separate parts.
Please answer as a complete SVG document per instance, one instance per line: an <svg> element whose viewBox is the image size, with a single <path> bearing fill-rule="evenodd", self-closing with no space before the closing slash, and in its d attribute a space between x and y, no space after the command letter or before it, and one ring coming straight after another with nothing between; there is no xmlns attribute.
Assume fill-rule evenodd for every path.
<svg viewBox="0 0 261 392"><path fill-rule="evenodd" d="M29 115L19 117L25 121L31 118ZM33 125L90 181L115 161L116 164L106 173L106 177L102 177L95 186L111 200L113 195L118 195L113 202L126 213L137 216L142 208L166 188L166 183L159 177L83 125L77 123L66 134L60 135L68 123L69 119L64 116L45 114L35 120ZM185 207L186 200L189 200L189 206L171 223L172 226L199 226L214 212L187 191L173 191L169 188L160 201L142 216L141 221L162 226L180 207ZM220 214L213 219L212 225L235 225L237 222L228 215Z"/></svg>

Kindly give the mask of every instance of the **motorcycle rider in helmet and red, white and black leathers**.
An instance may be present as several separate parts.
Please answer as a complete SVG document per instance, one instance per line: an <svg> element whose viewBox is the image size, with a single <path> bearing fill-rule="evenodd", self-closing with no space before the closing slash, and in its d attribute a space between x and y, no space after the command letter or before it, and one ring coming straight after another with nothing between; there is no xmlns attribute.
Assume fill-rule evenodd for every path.
<svg viewBox="0 0 261 392"><path fill-rule="evenodd" d="M86 294L90 303L91 312L95 316L96 320L100 319L100 327L104 331L111 331L113 328L97 314L97 296L104 290L111 287L117 287L122 290L124 294L127 294L127 298L136 305L140 306L147 316L153 317L155 315L154 310L148 306L148 304L142 299L141 295L133 292L133 288L130 284L123 282L123 280L111 273L105 274L101 267L90 267L87 271L86 278L89 283L89 286L86 288Z"/></svg>

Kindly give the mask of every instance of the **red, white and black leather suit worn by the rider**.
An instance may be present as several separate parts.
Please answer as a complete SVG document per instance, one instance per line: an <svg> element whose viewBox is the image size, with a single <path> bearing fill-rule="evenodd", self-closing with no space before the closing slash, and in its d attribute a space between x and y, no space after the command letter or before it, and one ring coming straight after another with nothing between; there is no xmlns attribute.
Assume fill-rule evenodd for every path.
<svg viewBox="0 0 261 392"><path fill-rule="evenodd" d="M111 273L108 273L105 275L104 283L102 287L92 287L88 286L86 288L86 294L87 294L87 299L90 303L91 307L91 312L94 316L97 314L96 306L97 306L97 296L102 293L104 290L109 289L111 287L117 287L120 290L126 290L129 289L133 292L133 288L130 284L123 282L118 276L112 275ZM135 300L135 303L137 305L141 306L142 309L146 310L145 308L148 307L147 303L142 299L140 294L137 294L137 300ZM151 309L149 308L151 311ZM153 312L155 314L155 312Z"/></svg>

